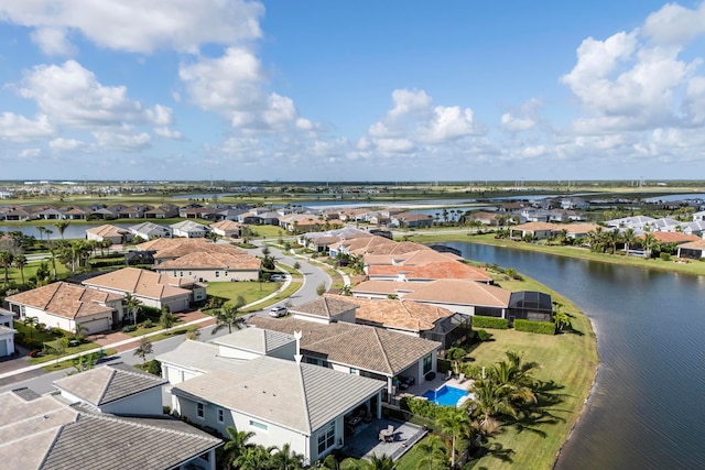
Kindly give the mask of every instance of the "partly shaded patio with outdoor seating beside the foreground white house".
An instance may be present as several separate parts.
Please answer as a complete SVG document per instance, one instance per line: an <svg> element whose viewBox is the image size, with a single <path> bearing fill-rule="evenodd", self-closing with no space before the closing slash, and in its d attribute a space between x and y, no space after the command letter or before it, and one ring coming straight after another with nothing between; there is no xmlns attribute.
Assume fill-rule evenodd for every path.
<svg viewBox="0 0 705 470"><path fill-rule="evenodd" d="M380 441L379 431L387 426L394 427L393 439L391 441ZM345 439L343 453L355 458L369 459L372 453L380 457L389 456L392 460L398 460L411 449L421 438L426 435L426 430L421 426L404 423L392 418L375 419L372 423L360 423L355 428L355 434Z"/></svg>

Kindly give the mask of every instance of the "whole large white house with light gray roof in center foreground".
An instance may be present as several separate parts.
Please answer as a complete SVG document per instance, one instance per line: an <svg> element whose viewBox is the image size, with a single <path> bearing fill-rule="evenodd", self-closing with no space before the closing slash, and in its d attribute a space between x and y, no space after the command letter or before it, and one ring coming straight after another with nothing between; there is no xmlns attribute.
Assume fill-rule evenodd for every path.
<svg viewBox="0 0 705 470"><path fill-rule="evenodd" d="M163 373L175 379L173 409L221 435L234 426L253 433L253 444L289 445L306 464L344 445L358 409L381 417L383 382L302 362L293 336L260 332L239 330L218 345L186 340L160 354ZM299 360L269 356L271 342Z"/></svg>

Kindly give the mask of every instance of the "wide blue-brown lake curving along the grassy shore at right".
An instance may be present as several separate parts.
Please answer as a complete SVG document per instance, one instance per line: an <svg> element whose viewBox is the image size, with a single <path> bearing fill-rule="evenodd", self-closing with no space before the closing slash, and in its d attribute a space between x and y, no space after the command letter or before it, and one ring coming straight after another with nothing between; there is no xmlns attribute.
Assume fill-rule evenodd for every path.
<svg viewBox="0 0 705 470"><path fill-rule="evenodd" d="M514 267L592 318L600 368L557 469L705 468L705 277L444 244Z"/></svg>

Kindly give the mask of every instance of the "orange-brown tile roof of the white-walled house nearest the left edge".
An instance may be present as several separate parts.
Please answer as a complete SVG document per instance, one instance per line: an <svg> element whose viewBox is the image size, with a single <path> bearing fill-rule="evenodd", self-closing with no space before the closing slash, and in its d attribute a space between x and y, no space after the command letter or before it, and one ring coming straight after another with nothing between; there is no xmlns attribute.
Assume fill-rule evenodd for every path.
<svg viewBox="0 0 705 470"><path fill-rule="evenodd" d="M118 294L96 291L65 282L56 282L32 291L14 294L6 299L15 304L39 308L48 314L77 318L112 311L106 302L121 299Z"/></svg>

